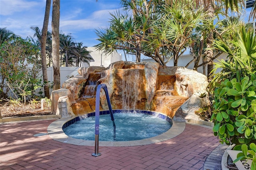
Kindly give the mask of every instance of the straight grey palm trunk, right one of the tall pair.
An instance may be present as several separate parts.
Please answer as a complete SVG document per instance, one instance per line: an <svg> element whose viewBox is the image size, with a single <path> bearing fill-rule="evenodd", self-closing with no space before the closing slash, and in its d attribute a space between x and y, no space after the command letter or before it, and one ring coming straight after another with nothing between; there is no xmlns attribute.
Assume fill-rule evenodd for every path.
<svg viewBox="0 0 256 170"><path fill-rule="evenodd" d="M60 89L60 0L52 1L53 90Z"/></svg>

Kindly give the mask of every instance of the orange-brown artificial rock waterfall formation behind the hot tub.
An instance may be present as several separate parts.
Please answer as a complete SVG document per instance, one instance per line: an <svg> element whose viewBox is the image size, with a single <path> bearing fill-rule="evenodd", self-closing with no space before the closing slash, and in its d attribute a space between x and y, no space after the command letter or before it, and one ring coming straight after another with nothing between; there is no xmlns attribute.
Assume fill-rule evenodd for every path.
<svg viewBox="0 0 256 170"><path fill-rule="evenodd" d="M186 121L200 120L195 111L209 105L208 99L198 97L207 93L207 77L184 67L118 61L110 64L108 68L83 67L78 73L79 76L63 83L66 94L61 93L64 97L59 102L57 98L61 94L52 92L55 109L52 113L56 113L56 110L58 113L63 111L65 105L58 104L60 102L67 103L67 108L63 111L64 117L95 111L97 84L106 84L112 109L151 110ZM56 108L58 105L62 108ZM100 109L108 109L103 90L100 95Z"/></svg>

